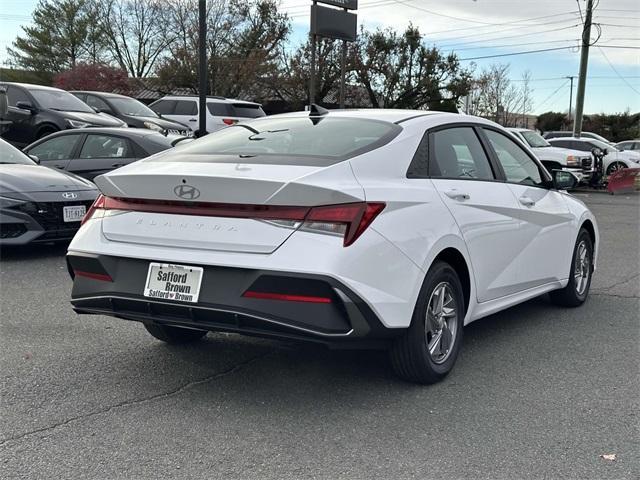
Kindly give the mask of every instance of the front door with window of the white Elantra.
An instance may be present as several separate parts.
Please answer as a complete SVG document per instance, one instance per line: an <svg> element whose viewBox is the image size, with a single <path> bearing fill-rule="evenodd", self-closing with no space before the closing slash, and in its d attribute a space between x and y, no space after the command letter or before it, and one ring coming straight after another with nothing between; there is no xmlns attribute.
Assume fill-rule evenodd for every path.
<svg viewBox="0 0 640 480"><path fill-rule="evenodd" d="M520 145L497 129L484 127L492 155L521 209L525 243L519 252L522 290L567 278L575 242L575 218L563 194L549 188L549 177Z"/></svg>

